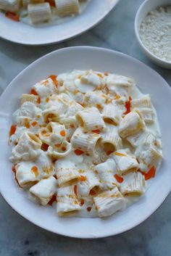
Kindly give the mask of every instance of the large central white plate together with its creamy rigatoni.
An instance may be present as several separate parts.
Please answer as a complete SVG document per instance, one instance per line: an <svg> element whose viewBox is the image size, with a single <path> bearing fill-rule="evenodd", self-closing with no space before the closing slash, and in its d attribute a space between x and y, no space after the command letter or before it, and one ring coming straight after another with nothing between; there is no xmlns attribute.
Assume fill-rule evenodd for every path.
<svg viewBox="0 0 171 256"><path fill-rule="evenodd" d="M116 51L38 59L1 96L2 196L65 236L137 226L170 193L170 97L160 75Z"/></svg>

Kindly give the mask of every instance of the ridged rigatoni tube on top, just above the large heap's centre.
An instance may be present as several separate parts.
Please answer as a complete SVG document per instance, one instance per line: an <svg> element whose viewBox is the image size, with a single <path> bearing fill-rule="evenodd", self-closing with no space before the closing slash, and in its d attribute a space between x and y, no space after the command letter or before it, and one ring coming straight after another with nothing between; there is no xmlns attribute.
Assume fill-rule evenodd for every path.
<svg viewBox="0 0 171 256"><path fill-rule="evenodd" d="M75 117L78 120L79 125L83 127L83 131L103 131L106 128L99 110L97 110L95 107L86 108L79 111Z"/></svg>

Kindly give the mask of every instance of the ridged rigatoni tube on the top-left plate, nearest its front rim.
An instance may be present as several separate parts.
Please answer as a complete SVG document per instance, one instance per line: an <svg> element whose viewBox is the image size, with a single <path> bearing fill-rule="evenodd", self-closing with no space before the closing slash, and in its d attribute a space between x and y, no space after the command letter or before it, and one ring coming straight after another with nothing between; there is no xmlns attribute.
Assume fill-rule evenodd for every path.
<svg viewBox="0 0 171 256"><path fill-rule="evenodd" d="M33 24L51 20L51 7L49 3L28 4L28 16Z"/></svg>

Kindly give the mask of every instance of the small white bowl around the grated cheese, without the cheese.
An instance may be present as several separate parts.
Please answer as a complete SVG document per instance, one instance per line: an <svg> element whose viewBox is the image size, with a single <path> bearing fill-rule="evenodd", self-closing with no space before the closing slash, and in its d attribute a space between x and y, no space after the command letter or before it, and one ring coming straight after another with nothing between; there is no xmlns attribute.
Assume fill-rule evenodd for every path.
<svg viewBox="0 0 171 256"><path fill-rule="evenodd" d="M146 15L153 9L157 9L158 7L162 7L164 5L171 5L171 0L146 0L141 4L141 6L138 9L138 12L135 16L135 36L138 40L138 44L143 51L144 54L146 54L149 59L151 59L154 63L161 67L169 68L171 69L171 62L167 62L164 59L160 59L151 51L149 51L148 48L143 44L141 41L141 38L139 36L139 28L141 26L141 22L143 22Z"/></svg>

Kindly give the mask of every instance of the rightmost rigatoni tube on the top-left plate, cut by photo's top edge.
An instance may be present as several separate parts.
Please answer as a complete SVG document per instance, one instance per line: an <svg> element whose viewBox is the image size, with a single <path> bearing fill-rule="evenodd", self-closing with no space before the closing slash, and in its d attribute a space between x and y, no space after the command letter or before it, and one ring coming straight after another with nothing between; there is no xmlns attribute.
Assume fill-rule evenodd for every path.
<svg viewBox="0 0 171 256"><path fill-rule="evenodd" d="M78 0L55 0L57 15L63 17L79 13L80 4Z"/></svg>

